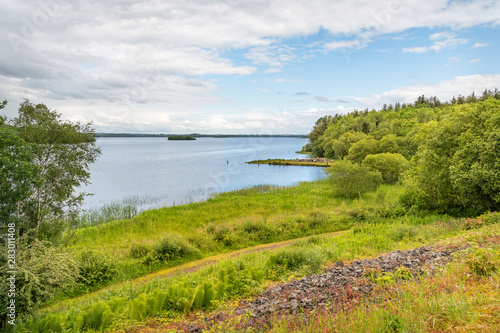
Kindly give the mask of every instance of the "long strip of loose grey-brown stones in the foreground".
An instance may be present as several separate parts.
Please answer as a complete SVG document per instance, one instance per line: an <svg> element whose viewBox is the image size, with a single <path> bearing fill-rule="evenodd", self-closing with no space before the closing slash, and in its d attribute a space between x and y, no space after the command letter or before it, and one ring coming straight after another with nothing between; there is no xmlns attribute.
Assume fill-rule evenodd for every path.
<svg viewBox="0 0 500 333"><path fill-rule="evenodd" d="M262 325L275 314L317 311L325 308L342 309L354 300L372 294L374 277L389 276L400 267L406 267L414 277L431 273L436 267L451 260L457 248L436 250L431 246L407 251L395 251L375 259L356 260L349 264L337 262L322 274L313 274L299 280L281 283L269 288L255 300L240 304L235 315L249 314L252 325ZM401 271L401 269L400 269ZM368 277L372 277L372 281ZM394 280L396 275L390 275ZM206 319L207 324L224 320L223 314Z"/></svg>

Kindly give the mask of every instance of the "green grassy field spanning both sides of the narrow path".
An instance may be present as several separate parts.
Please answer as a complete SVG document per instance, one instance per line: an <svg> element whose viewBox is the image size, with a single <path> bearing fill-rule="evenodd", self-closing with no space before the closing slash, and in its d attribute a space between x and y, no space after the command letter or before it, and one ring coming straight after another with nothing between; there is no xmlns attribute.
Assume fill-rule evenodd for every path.
<svg viewBox="0 0 500 333"><path fill-rule="evenodd" d="M400 191L398 186L385 185L361 198L344 199L333 196L326 180L293 187L260 186L77 229L65 235L66 249L77 257L89 249L107 257L115 263L113 278L93 288L59 295L19 327L31 331L129 332L154 326L167 331L186 320L186 315L203 317L228 309L269 284L320 272L335 261L374 257L457 236L474 241L500 233L498 225L467 231L466 219L407 212L399 205ZM346 231L338 237L320 235L340 230ZM286 248L234 252L305 236L309 237ZM167 255L158 259L162 253ZM145 276L210 256L218 256L220 262L193 272ZM140 276L145 277L132 280ZM383 306L376 304L382 309L380 316L385 313ZM345 315L338 314L338 320L351 322L354 318ZM375 326L377 316L373 317ZM314 325L325 322L323 331L328 331L328 325L333 324L326 323L327 318L308 320ZM276 318L270 329L316 332L310 325L301 326L303 322L300 316L296 322ZM220 332L237 327L227 325Z"/></svg>

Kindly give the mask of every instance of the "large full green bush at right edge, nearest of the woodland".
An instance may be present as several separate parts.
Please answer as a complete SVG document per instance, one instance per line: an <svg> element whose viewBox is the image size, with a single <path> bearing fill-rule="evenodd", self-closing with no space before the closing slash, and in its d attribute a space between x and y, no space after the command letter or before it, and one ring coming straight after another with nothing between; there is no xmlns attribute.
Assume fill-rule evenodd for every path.
<svg viewBox="0 0 500 333"><path fill-rule="evenodd" d="M500 208L500 101L458 105L422 126L406 204L480 213Z"/></svg>

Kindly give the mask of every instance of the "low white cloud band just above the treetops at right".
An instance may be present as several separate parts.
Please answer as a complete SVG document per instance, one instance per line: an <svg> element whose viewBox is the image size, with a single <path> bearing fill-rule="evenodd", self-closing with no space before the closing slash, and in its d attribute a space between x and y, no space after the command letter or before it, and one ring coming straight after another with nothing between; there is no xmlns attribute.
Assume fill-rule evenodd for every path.
<svg viewBox="0 0 500 333"><path fill-rule="evenodd" d="M500 74L477 74L457 76L435 85L415 84L399 87L382 94L353 99L368 108L380 108L384 103L413 103L420 95L437 96L441 101L447 101L453 96L467 96L472 92L480 94L485 89L494 90L496 87L500 87Z"/></svg>

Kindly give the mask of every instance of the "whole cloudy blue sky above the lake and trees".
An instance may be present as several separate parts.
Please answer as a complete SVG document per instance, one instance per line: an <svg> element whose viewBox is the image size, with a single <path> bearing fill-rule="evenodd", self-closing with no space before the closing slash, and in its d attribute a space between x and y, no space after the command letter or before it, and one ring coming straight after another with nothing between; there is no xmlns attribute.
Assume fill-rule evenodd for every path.
<svg viewBox="0 0 500 333"><path fill-rule="evenodd" d="M500 89L500 0L2 0L0 100L97 132L307 134Z"/></svg>

